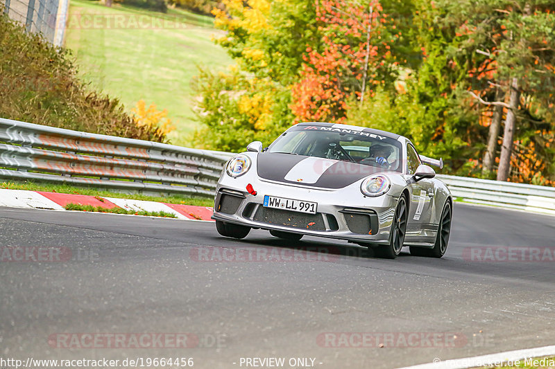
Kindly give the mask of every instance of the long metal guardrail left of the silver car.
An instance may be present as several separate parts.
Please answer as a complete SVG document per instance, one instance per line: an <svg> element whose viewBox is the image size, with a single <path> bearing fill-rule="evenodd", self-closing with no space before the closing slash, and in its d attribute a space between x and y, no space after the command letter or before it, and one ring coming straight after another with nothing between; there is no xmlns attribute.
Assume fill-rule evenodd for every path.
<svg viewBox="0 0 555 369"><path fill-rule="evenodd" d="M213 196L230 155L0 118L0 179Z"/></svg>

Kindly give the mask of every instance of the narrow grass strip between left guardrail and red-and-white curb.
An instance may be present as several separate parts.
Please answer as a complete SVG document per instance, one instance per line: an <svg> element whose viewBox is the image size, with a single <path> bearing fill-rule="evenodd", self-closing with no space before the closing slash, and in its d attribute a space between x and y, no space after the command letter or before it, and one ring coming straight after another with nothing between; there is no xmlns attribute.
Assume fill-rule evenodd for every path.
<svg viewBox="0 0 555 369"><path fill-rule="evenodd" d="M91 195L101 197L115 197L119 199L135 199L145 201L165 202L168 204L184 204L194 206L213 206L214 199L200 198L200 197L187 197L182 195L172 195L168 197L148 196L141 194L126 194L121 192L111 192L97 190L96 188L89 187L76 187L65 184L51 184L40 182L3 182L0 183L0 188L8 188L10 190L30 190L30 191L45 191L45 192L58 192L58 193L71 193L77 195Z"/></svg>

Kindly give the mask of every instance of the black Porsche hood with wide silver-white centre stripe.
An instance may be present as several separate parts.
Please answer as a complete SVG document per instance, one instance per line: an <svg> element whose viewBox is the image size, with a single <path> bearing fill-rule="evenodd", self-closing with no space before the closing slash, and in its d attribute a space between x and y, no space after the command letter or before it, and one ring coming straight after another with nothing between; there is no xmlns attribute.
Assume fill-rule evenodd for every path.
<svg viewBox="0 0 555 369"><path fill-rule="evenodd" d="M257 156L258 177L309 187L343 188L371 174L384 172L370 165L278 152Z"/></svg>

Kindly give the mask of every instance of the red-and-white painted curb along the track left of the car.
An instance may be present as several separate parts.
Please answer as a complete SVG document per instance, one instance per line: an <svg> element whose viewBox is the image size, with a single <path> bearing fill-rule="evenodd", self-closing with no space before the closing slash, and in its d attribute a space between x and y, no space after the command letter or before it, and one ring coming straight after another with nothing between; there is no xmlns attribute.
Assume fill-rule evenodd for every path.
<svg viewBox="0 0 555 369"><path fill-rule="evenodd" d="M135 211L164 211L176 215L178 219L211 220L210 206L166 204L155 201L117 199L89 195L73 195L58 192L8 190L0 188L0 206L27 209L65 210L67 204L100 206L101 208L123 208Z"/></svg>

